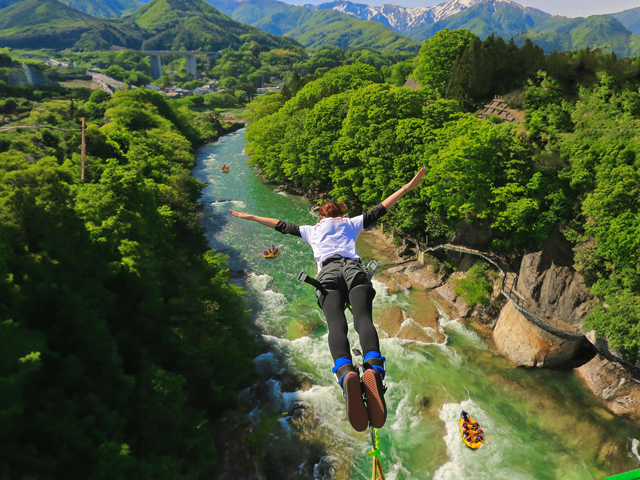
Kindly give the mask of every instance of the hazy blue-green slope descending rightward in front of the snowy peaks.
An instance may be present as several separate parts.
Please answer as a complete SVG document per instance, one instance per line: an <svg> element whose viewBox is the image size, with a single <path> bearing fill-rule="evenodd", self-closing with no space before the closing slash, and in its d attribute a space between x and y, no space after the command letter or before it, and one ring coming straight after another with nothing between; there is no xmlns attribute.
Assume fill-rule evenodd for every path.
<svg viewBox="0 0 640 480"><path fill-rule="evenodd" d="M370 48L387 53L417 52L420 45L375 21L359 20L334 10L312 11L277 0L209 0L235 20L273 35L295 38L308 48L327 45Z"/></svg>

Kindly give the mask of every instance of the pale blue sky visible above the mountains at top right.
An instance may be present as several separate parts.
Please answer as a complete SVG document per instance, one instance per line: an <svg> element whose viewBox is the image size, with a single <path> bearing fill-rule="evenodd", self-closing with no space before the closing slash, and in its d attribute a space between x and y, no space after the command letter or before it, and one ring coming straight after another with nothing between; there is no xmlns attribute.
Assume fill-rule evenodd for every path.
<svg viewBox="0 0 640 480"><path fill-rule="evenodd" d="M305 3L325 3L329 0L283 0L294 5ZM428 7L437 5L446 0L351 0L353 3L366 3L368 5L382 5L385 3L400 5L403 7ZM529 7L539 8L554 15L567 17L587 17L601 13L616 13L630 8L640 7L640 0L526 0L518 1Z"/></svg>

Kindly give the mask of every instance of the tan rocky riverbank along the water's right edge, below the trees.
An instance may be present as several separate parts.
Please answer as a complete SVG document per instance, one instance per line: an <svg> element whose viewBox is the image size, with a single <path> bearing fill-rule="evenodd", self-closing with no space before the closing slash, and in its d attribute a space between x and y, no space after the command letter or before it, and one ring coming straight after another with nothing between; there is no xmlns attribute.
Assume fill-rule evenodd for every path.
<svg viewBox="0 0 640 480"><path fill-rule="evenodd" d="M384 249L379 249L380 254L387 255L390 258L396 257L393 258L393 263L400 259L397 255L398 252L406 252L404 247L394 246L392 236L385 235L378 229L372 229L370 234L386 246ZM530 257L535 260L531 260ZM535 267L540 262L540 257L541 254L525 256L523 259L525 271L524 275L521 272L520 283L533 285L537 282L538 277L542 276L544 278L546 276L544 278L546 283L555 284L558 283L557 278L563 278L564 282L561 285L554 285L554 288L543 285L538 287L537 290L542 290L543 295L545 291L553 290L555 292L555 303L559 306L557 309L561 310L560 315L572 321L572 324L567 324L555 319L554 323L564 325L565 328L573 325L581 327L588 311L588 294L583 287L583 281L574 278L566 267L564 268L564 270L567 270L565 272L563 267L552 265L550 268L551 273L541 272L537 268L531 267L532 263ZM444 264L435 257L425 260L424 265L418 261L410 261L402 266L387 269L385 274L391 276L392 279L385 281L385 283L411 281L414 285L419 285L424 289L432 289L432 294L436 295L437 301L444 306L444 309L450 315L467 319L466 321L471 322L474 328L478 328L479 331L483 332L485 341L492 345L497 354L505 355L506 353L505 356L508 359L515 357L514 363L518 365L535 367L535 363L528 364L528 358L545 358L549 361L549 359L554 358L550 355L554 354L553 348L555 348L557 353L554 355L558 358L557 363L560 365L565 364L566 366L563 368L569 369L572 369L571 365L575 365L574 371L577 378L592 392L594 398L602 406L612 414L629 418L640 426L640 380L634 375L633 366L624 362L624 359L616 357L615 352L609 350L606 342L596 338L595 332L590 332L587 335L587 340L597 347L600 353L590 353L593 347L587 344L586 341L583 343L591 348L587 348L586 345L580 346L580 344L572 346L567 342L561 342L557 347L552 347L540 338L541 334L544 335L544 332L535 329L511 304L507 303L507 300L500 294L501 280L495 277L489 305L475 305L471 308L467 302L456 294L456 281L466 277L476 258L471 255L465 255L461 258L450 259L459 261L457 270L453 273L449 272L450 274L446 272ZM545 275L541 275L543 272ZM567 295L563 295L565 290L568 292ZM528 291L535 291L535 289L531 287ZM530 299L528 303L533 305L534 308L540 309ZM552 305L552 302L546 298L543 298L541 303L547 305L547 310L549 310L549 305ZM573 308L568 305L573 305ZM505 309L505 307L509 308ZM553 319L554 314L557 315L555 311L550 310L547 318ZM496 330L494 327L499 318L505 320L500 324L500 328ZM513 339L509 337L513 337ZM510 345L510 343L515 343L515 345ZM523 343L528 343L529 345L523 349ZM582 349L582 353L577 352L577 349ZM578 357L581 355L586 356L586 358L584 361L581 361L580 358L573 360L576 355Z"/></svg>

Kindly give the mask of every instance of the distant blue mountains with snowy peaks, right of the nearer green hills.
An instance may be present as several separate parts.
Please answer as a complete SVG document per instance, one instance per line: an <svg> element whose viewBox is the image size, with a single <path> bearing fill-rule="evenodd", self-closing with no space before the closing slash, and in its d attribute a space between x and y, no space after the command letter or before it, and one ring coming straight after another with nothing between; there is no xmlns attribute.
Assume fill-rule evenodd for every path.
<svg viewBox="0 0 640 480"><path fill-rule="evenodd" d="M314 29L315 21L302 7L277 0L207 0L232 18L265 31L289 35L305 46L312 46L309 38L322 35ZM621 56L640 53L640 8L612 15L594 15L587 18L568 18L551 15L512 0L450 0L432 7L406 8L397 5L368 6L346 0L320 5L305 5L309 12L319 14L332 11L342 17L332 17L332 26L340 31L336 22L350 24L350 18L377 22L385 27L422 42L445 28L467 29L481 38L492 33L497 37L514 37L522 45L527 38L542 46L547 53L580 48L603 47ZM307 24L303 36L296 30L297 19ZM629 30L629 28L632 30ZM331 43L331 42L329 42ZM332 42L334 45L340 43ZM348 43L352 46L351 43ZM313 45L317 46L317 45Z"/></svg>

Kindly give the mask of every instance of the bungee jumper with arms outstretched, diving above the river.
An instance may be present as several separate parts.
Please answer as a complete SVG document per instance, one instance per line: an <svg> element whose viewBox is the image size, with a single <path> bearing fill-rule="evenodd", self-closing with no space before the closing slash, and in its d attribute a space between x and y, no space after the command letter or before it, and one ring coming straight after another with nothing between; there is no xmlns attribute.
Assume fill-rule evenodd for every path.
<svg viewBox="0 0 640 480"><path fill-rule="evenodd" d="M318 288L318 306L329 327L329 350L334 360L332 372L342 387L349 423L358 432L365 431L369 426L372 432L382 428L387 419L387 407L384 400L386 389L382 385L385 357L380 352L378 333L373 325L373 298L376 292L358 255L356 239L409 190L420 185L424 173L423 167L401 189L378 206L354 218L344 216L344 204L338 205L332 201L320 207L320 221L316 225L298 226L275 218L230 210L235 217L260 223L282 234L300 237L311 246L318 265L318 276L312 279L312 284ZM347 338L348 324L344 314L347 302L351 305L353 324L364 352L362 375L353 364Z"/></svg>

